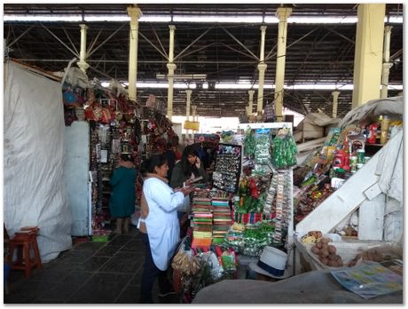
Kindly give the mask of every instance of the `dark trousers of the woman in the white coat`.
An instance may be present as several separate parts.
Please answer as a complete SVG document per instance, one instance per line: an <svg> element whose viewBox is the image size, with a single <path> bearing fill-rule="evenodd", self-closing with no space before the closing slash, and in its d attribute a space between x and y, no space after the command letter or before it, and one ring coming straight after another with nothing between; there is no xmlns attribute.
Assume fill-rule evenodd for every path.
<svg viewBox="0 0 408 309"><path fill-rule="evenodd" d="M142 286L140 289L140 302L142 304L153 304L152 289L153 283L156 277L159 279L159 289L161 294L166 294L173 290L169 279L167 277L167 271L161 271L154 265L152 250L150 250L149 237L147 234L142 233L142 241L145 243L145 267L142 274Z"/></svg>

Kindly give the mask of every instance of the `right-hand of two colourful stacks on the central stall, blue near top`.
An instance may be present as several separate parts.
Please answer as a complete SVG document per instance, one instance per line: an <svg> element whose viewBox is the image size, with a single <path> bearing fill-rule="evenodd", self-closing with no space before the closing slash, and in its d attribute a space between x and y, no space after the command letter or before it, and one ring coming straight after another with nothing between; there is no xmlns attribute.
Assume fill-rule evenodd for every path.
<svg viewBox="0 0 408 309"><path fill-rule="evenodd" d="M224 239L232 225L230 200L224 197L213 197L213 239Z"/></svg>

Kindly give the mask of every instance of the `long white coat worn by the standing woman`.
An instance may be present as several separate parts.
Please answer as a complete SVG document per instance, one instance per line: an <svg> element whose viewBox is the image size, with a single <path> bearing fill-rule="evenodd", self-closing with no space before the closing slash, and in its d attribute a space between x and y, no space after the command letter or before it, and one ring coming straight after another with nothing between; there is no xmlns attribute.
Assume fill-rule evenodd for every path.
<svg viewBox="0 0 408 309"><path fill-rule="evenodd" d="M173 189L159 178L147 178L143 184L143 193L149 214L145 218L153 262L164 271L180 241L180 225L177 207L183 204L184 194Z"/></svg>

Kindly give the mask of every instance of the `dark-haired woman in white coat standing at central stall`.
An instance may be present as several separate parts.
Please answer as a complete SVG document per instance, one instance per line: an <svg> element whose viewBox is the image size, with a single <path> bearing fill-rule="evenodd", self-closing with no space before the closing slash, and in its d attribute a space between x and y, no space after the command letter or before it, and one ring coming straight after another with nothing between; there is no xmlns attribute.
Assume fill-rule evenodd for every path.
<svg viewBox="0 0 408 309"><path fill-rule="evenodd" d="M153 303L152 288L159 278L159 297L174 293L167 278L169 261L180 241L177 207L193 186L172 189L168 185L169 166L164 155L151 155L145 163L147 170L143 184L139 230L145 242L145 267L142 274L141 303Z"/></svg>

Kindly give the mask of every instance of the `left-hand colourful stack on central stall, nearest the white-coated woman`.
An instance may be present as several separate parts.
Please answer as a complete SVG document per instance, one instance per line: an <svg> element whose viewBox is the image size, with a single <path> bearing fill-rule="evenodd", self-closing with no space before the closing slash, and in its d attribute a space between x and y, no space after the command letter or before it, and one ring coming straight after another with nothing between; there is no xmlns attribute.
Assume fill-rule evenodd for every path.
<svg viewBox="0 0 408 309"><path fill-rule="evenodd" d="M209 247L213 237L213 214L209 198L192 199L192 248Z"/></svg>

